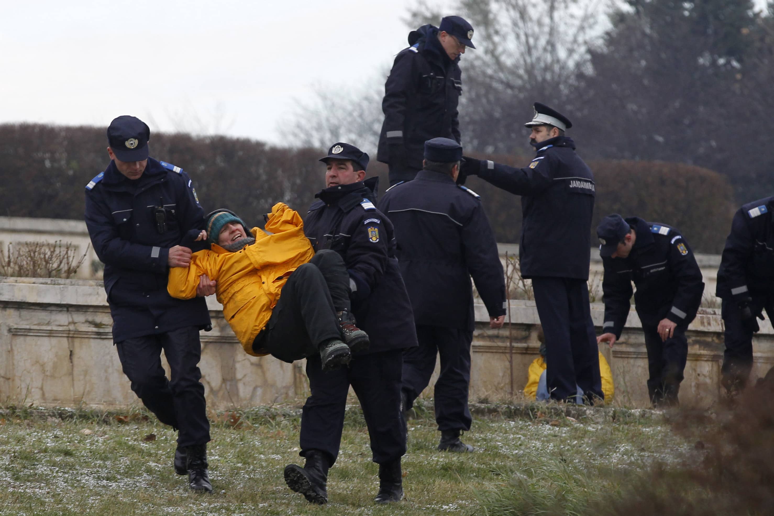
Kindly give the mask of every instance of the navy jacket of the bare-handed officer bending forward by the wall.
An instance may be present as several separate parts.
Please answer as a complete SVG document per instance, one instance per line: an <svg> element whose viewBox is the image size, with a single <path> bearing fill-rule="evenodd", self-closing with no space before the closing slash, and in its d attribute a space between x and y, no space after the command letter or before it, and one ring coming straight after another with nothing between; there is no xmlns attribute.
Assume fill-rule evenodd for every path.
<svg viewBox="0 0 774 516"><path fill-rule="evenodd" d="M688 242L673 227L653 224L639 217L625 219L637 234L627 258L602 258L604 279L604 332L616 338L626 323L632 299L645 325L664 318L687 326L701 304L704 282Z"/></svg>

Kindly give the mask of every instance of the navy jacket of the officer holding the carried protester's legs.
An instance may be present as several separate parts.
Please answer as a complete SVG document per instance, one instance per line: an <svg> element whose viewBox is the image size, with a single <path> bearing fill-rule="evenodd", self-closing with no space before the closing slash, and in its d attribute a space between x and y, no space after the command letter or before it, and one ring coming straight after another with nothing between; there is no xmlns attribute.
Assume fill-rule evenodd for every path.
<svg viewBox="0 0 774 516"><path fill-rule="evenodd" d="M303 231L315 251L331 249L344 258L351 283L352 313L368 333L367 353L417 345L406 285L395 256L395 231L378 211L378 178L334 186L317 193Z"/></svg>

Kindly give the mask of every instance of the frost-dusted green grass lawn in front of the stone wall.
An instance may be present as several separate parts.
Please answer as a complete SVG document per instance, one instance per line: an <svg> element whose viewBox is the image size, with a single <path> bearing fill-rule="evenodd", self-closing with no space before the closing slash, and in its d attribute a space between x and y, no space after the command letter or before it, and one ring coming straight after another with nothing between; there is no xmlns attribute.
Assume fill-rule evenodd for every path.
<svg viewBox="0 0 774 516"><path fill-rule="evenodd" d="M419 408L409 421L403 459L406 501L380 507L372 502L378 466L353 405L330 470L330 501L319 507L283 480L286 464L303 464L296 408L217 415L208 449L213 494L187 489L187 477L172 468L175 432L142 412L60 419L6 409L0 415L0 514L498 514L504 491L551 497L566 484L565 492L610 492L626 472L693 448L650 412L623 411L628 415L615 421L592 422L539 408L531 416L479 417L464 435L475 453L440 453L435 424Z"/></svg>

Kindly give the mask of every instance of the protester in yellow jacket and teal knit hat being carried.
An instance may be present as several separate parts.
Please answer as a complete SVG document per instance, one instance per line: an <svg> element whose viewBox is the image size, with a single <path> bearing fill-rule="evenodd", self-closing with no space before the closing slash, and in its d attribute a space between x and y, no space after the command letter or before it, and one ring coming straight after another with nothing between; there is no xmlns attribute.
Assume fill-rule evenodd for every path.
<svg viewBox="0 0 774 516"><path fill-rule="evenodd" d="M187 267L170 268L167 289L190 299L201 275L214 280L223 315L246 353L286 362L315 355L329 371L348 364L348 344L368 342L354 325L341 328L337 317L349 309L344 262L334 252L314 255L296 211L276 203L265 231L248 231L233 212L215 210L206 227L188 237L206 238L211 249L195 252Z"/></svg>

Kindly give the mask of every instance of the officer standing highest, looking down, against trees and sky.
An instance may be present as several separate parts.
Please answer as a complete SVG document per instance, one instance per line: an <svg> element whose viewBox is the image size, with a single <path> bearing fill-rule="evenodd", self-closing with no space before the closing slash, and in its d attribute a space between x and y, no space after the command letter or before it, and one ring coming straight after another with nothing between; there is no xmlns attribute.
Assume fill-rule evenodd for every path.
<svg viewBox="0 0 774 516"><path fill-rule="evenodd" d="M460 16L409 33L409 48L396 56L387 83L377 159L389 164L389 182L414 179L430 138L460 140L457 104L462 94L460 57L475 48L473 27Z"/></svg>

